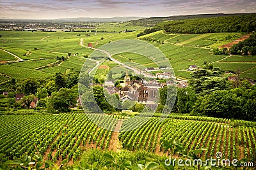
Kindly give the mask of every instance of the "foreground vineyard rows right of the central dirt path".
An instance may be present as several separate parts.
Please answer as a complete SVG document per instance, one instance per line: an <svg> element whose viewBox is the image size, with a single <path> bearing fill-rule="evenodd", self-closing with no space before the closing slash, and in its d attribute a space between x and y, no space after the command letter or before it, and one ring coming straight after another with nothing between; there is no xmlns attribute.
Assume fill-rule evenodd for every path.
<svg viewBox="0 0 256 170"><path fill-rule="evenodd" d="M204 159L214 157L216 152L221 152L223 158L226 159L255 160L256 128L254 122L235 120L232 123L239 125L235 127L226 119L202 118L202 121L199 121L200 117L197 118L198 120L196 117L173 116L164 122L159 122L159 118L152 118L138 129L121 132L119 139L123 147L128 150L147 150L164 154L167 153L163 147L164 140L179 140L188 152L207 148L207 151L203 153Z"/></svg>

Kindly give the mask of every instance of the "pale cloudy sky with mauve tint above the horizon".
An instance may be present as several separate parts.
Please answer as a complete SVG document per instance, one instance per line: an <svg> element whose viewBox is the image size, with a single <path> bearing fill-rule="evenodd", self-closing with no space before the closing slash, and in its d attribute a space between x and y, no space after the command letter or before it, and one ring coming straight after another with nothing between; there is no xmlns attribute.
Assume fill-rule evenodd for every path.
<svg viewBox="0 0 256 170"><path fill-rule="evenodd" d="M255 13L255 0L0 0L0 18L168 17Z"/></svg>

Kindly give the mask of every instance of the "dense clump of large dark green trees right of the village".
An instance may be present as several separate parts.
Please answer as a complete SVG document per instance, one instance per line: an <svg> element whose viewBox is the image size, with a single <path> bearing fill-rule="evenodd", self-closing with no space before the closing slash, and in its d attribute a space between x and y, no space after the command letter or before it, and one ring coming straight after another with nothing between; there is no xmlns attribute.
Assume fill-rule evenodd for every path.
<svg viewBox="0 0 256 170"><path fill-rule="evenodd" d="M256 85L239 78L227 81L223 72L205 66L192 74L189 87L177 90L173 110L193 116L256 121Z"/></svg>

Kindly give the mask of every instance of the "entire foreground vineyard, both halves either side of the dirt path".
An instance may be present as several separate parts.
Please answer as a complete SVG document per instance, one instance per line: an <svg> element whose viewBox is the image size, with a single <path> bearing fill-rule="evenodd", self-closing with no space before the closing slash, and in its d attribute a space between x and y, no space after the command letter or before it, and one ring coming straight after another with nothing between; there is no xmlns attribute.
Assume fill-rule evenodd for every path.
<svg viewBox="0 0 256 170"><path fill-rule="evenodd" d="M111 116L121 118L118 116ZM109 125L114 130L117 119L96 115L94 121ZM143 124L148 120L146 124ZM111 122L109 122L111 121ZM0 117L0 153L4 160L19 158L36 152L47 160L71 163L79 159L86 148L113 149L113 132L93 124L83 113L60 115L2 115ZM125 131L134 124L143 124L138 129ZM179 140L186 150L207 148L202 157L215 157L221 152L226 159L255 161L255 122L221 118L189 117L171 115L164 121L159 118L137 117L124 121L118 139L122 147L131 150L145 150L166 155L163 142ZM115 132L114 132L115 133ZM117 137L116 137L117 138ZM173 155L173 150L170 151ZM3 160L2 160L3 161Z"/></svg>

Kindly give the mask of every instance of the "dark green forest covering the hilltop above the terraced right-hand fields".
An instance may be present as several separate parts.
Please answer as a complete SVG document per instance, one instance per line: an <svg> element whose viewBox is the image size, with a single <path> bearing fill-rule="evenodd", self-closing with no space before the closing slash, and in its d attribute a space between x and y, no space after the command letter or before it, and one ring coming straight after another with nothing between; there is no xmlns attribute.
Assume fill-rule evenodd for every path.
<svg viewBox="0 0 256 170"><path fill-rule="evenodd" d="M252 32L256 28L256 14L230 17L195 18L186 20L170 20L160 22L152 29L138 34L142 36L150 32L164 30L179 34L202 34L214 32ZM150 30L150 31L149 31Z"/></svg>

